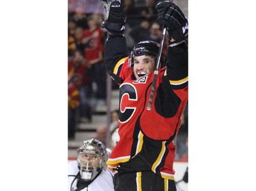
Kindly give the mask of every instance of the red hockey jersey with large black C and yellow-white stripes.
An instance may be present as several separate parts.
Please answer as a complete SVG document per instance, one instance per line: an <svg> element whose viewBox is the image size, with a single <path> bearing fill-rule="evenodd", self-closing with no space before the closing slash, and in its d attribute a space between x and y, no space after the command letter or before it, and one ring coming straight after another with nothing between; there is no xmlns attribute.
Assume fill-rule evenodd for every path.
<svg viewBox="0 0 256 191"><path fill-rule="evenodd" d="M122 37L121 37L122 38ZM169 48L167 67L159 70L152 109L147 110L154 71L132 80L127 54L121 47L125 40L106 41L106 69L119 84L119 142L107 164L116 167L139 155L152 171L173 179L175 145L188 101L188 59L186 48L177 54ZM115 46L118 46L118 51ZM122 46L121 46L122 45ZM115 53L117 52L117 53Z"/></svg>

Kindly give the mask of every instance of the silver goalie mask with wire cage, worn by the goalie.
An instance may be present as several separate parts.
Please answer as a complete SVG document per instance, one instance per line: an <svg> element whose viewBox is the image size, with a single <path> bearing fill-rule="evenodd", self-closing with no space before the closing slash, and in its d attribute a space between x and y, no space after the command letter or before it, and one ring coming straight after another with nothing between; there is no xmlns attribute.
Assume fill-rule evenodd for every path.
<svg viewBox="0 0 256 191"><path fill-rule="evenodd" d="M83 141L83 146L77 150L77 163L80 169L81 179L91 181L106 168L106 160L109 154L104 144L97 139Z"/></svg>

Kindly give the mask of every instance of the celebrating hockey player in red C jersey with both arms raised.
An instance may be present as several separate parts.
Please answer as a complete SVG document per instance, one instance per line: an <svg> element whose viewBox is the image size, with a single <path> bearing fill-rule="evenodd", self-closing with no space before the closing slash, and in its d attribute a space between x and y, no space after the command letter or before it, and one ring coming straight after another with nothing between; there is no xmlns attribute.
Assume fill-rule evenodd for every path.
<svg viewBox="0 0 256 191"><path fill-rule="evenodd" d="M126 50L124 1L101 0L106 8L102 23L109 32L105 63L119 84L119 141L106 164L115 167L115 191L175 191L173 160L181 117L188 101L188 20L177 5L160 1L158 23L167 27L167 56L158 55L159 44L141 41ZM147 109L156 60L158 77Z"/></svg>

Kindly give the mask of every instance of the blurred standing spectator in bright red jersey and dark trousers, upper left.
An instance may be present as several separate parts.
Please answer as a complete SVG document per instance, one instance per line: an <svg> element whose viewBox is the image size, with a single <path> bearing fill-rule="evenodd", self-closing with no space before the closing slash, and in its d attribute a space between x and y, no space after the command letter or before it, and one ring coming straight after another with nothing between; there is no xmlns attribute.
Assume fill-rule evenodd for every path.
<svg viewBox="0 0 256 191"><path fill-rule="evenodd" d="M83 31L82 42L85 44L84 55L87 61L94 97L106 103L106 70L104 69L104 31L100 28L102 17L92 14L88 17L89 29Z"/></svg>

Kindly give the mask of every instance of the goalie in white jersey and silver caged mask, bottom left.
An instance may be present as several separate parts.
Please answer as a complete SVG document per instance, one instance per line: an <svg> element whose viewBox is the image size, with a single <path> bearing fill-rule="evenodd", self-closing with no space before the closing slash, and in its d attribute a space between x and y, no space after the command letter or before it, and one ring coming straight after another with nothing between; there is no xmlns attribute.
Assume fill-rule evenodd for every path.
<svg viewBox="0 0 256 191"><path fill-rule="evenodd" d="M113 191L113 173L107 169L109 153L97 139L83 141L77 160L68 164L68 191Z"/></svg>

